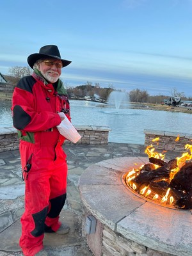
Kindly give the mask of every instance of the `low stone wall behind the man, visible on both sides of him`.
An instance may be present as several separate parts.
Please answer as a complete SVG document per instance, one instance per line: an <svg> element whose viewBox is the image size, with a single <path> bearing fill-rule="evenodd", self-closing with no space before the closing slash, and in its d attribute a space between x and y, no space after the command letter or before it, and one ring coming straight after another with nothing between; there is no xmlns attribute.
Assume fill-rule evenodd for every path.
<svg viewBox="0 0 192 256"><path fill-rule="evenodd" d="M76 126L77 131L81 135L81 140L77 144L101 145L108 144L109 127L104 126ZM65 144L70 144L65 141ZM0 128L0 152L7 150L15 150L19 148L19 139L17 131L13 127Z"/></svg>

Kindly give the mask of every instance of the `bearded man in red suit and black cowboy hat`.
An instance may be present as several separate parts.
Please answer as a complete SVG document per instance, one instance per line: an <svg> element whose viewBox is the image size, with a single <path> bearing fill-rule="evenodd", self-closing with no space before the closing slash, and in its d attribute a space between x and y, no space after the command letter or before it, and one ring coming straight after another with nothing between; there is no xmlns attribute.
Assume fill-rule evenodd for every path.
<svg viewBox="0 0 192 256"><path fill-rule="evenodd" d="M70 63L61 59L56 45L43 46L28 57L33 74L20 79L13 92L13 125L20 138L22 178L26 182L19 244L26 256L48 255L43 246L44 232L69 231L59 221L67 193L67 163L62 149L65 138L56 126L65 115L70 120L67 92L59 78L61 68Z"/></svg>

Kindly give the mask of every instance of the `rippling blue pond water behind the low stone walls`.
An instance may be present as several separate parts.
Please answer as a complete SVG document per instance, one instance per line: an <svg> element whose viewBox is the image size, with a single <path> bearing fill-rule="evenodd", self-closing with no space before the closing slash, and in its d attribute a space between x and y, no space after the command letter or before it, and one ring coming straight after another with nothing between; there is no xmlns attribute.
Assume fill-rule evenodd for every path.
<svg viewBox="0 0 192 256"><path fill-rule="evenodd" d="M12 127L11 102L0 101L0 127ZM148 109L109 108L107 104L70 100L72 124L108 126L109 142L144 144L144 129L191 133L188 113Z"/></svg>

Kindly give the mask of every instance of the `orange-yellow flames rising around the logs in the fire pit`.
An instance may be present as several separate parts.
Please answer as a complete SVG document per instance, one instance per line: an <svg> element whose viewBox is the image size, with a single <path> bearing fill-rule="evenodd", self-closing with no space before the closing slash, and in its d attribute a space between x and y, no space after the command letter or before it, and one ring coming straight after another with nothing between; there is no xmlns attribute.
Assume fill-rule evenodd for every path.
<svg viewBox="0 0 192 256"><path fill-rule="evenodd" d="M178 135L177 139L175 141L179 141L179 139L180 138L179 138L179 135ZM155 138L153 140L153 142L157 142L157 141L159 141L159 138ZM141 179L141 183L138 182L138 180L140 180L140 179L138 179L140 173L142 173L142 175L145 172L146 173L147 172L148 173L151 173L151 172L156 173L157 169L158 170L161 169L161 165L159 167L159 163L163 162L163 163L166 164L166 162L163 161L166 151L163 152L164 154L158 153L158 152L156 152L153 145L150 145L145 149L145 154L148 155L149 159L153 158L153 159L158 159L158 160L154 160L154 162L153 161L150 162L152 164L151 165L149 164L148 167L145 167L145 165L147 166L147 164L141 165L140 167L137 167L136 169L133 168L131 170L131 172L127 173L127 175L125 177L125 182L126 182L127 186L131 187L136 193L140 194L141 196L144 196L145 198L148 198L148 200L155 200L158 204L172 205L172 207L174 207L174 205L175 205L174 196L178 195L177 193L182 193L182 197L187 198L187 197L185 197L186 194L187 194L186 191L183 190L183 191L180 191L180 192L177 192L177 193L175 192L176 194L174 194L172 186L169 185L169 184L171 184L171 181L175 177L176 173L178 173L180 171L180 168L182 168L182 166L185 166L186 163L191 163L189 161L192 159L192 145L187 144L185 146L185 149L186 149L187 152L183 153L181 157L176 157L176 159L172 160L175 163L175 165L174 164L171 165L172 168L170 169L170 171L168 171L169 172L168 176L165 175L165 177L160 179L160 182L164 182L162 184L166 184L166 186L167 186L166 190L161 190L160 189L160 191L161 191L161 192L159 191L160 194L159 194L159 192L158 193L155 192L155 191L158 190L158 188L156 188L156 186L157 186L156 184L158 184L158 179L157 179L157 182L155 180L154 182L152 182L152 184L149 183L146 186L143 186L145 184L145 179L144 179L144 181L142 181L142 179ZM171 161L169 161L169 162L171 162ZM136 163L135 163L135 165L138 166L138 164L136 164ZM150 166L154 166L154 169L152 169L151 171L148 170L148 169L145 169L145 168L142 169L143 166L145 168L150 168ZM143 178L143 176L141 176L141 177ZM192 196L190 198L192 198ZM186 200L186 199L184 199L184 200ZM184 201L184 202L186 202L186 201ZM186 205L181 205L180 209L184 209L185 207L186 207ZM192 208L190 208L190 209L192 209Z"/></svg>

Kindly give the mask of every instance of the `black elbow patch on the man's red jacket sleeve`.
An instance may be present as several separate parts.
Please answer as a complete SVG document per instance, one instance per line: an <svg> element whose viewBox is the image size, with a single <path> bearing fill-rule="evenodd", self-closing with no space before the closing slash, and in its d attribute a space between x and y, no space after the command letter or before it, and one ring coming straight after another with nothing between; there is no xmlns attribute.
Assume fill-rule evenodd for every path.
<svg viewBox="0 0 192 256"><path fill-rule="evenodd" d="M13 126L22 130L31 122L31 116L28 115L19 105L13 108Z"/></svg>

